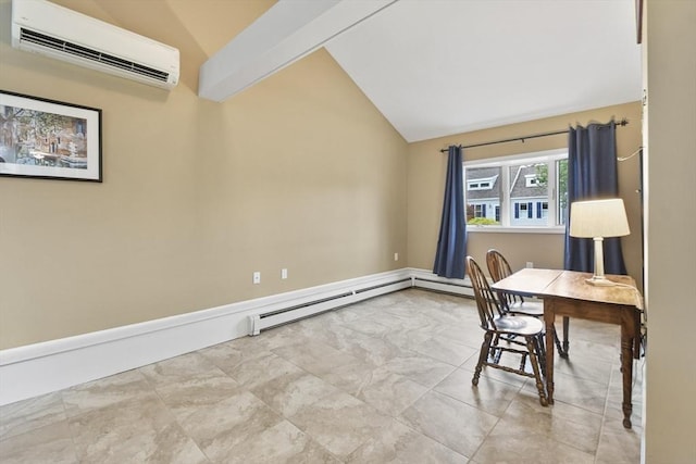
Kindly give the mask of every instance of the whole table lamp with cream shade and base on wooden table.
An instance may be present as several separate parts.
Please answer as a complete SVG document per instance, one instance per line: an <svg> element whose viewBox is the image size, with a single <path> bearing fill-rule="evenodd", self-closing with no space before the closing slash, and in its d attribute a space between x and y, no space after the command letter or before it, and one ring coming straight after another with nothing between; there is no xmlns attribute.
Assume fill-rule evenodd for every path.
<svg viewBox="0 0 696 464"><path fill-rule="evenodd" d="M570 236L592 238L595 241L595 275L587 284L596 286L613 286L614 283L605 277L605 237L623 237L631 234L623 200L611 198L606 200L576 201L570 205Z"/></svg>

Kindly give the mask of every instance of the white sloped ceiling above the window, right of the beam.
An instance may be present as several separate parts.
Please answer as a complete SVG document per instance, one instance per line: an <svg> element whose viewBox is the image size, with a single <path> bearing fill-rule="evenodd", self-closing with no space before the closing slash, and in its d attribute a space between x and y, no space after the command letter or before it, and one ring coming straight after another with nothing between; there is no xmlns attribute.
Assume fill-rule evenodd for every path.
<svg viewBox="0 0 696 464"><path fill-rule="evenodd" d="M399 0L325 47L417 141L637 101L635 37L634 0Z"/></svg>

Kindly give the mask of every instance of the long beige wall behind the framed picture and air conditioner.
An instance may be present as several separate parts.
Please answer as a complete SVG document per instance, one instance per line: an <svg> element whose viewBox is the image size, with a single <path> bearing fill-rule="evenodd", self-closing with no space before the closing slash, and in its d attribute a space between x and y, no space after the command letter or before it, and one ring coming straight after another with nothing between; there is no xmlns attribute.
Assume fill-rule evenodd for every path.
<svg viewBox="0 0 696 464"><path fill-rule="evenodd" d="M406 265L407 143L328 53L197 97L200 64L272 1L59 3L179 48L183 81L12 49L0 2L0 88L103 111L103 184L0 178L0 348Z"/></svg>

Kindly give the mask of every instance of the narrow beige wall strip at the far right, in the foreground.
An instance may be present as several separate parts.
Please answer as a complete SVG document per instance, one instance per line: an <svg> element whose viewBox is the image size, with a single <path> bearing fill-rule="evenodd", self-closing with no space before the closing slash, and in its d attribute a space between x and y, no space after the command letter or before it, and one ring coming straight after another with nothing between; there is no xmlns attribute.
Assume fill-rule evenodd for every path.
<svg viewBox="0 0 696 464"><path fill-rule="evenodd" d="M647 0L645 462L696 462L696 2ZM647 33L647 34L646 34Z"/></svg>

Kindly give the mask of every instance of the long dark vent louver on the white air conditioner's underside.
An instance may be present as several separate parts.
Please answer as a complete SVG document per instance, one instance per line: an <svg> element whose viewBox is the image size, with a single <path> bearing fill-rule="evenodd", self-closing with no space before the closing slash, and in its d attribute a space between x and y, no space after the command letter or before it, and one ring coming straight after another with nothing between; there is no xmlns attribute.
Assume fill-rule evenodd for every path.
<svg viewBox="0 0 696 464"><path fill-rule="evenodd" d="M121 70L150 77L162 83L166 83L170 77L169 73L144 66L142 64L138 64L133 61L123 60L109 53L102 53L87 47L82 47L77 43L71 43L57 37L51 37L45 34L37 33L35 30L29 30L24 27L21 30L20 40L35 43L41 47L51 48L53 50L59 50L64 53L83 58L85 60L90 60L98 63L107 64L109 66L119 67Z"/></svg>

